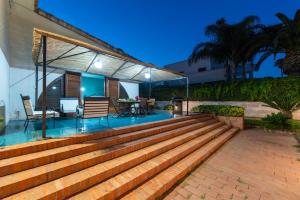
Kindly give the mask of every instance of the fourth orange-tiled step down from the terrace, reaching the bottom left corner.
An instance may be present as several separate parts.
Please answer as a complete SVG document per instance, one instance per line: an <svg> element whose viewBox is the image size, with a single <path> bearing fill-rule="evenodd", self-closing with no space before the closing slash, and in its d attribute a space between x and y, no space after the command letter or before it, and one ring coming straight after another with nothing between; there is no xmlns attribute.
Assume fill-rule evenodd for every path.
<svg viewBox="0 0 300 200"><path fill-rule="evenodd" d="M148 146L146 148L134 151L124 156L112 159L101 164L89 167L82 171L70 174L68 176L56 179L54 181L42 184L32 189L23 191L21 193L12 195L7 199L63 199L68 198L75 193L86 190L87 188L101 183L107 178L128 170L140 163L143 163L160 154L165 155L164 152L171 150L172 152L179 152L179 145L182 150L178 155L174 154L175 160L182 156L189 154L195 148L207 143L217 135L228 130L229 126L223 125L215 129L216 124L200 128L189 133L179 135L175 138L160 142L158 144ZM211 131L207 133L208 131ZM206 133L203 135L203 133ZM193 139L196 138L196 139ZM175 149L173 149L175 148ZM148 161L147 161L148 162ZM152 161L151 161L152 162ZM151 163L150 162L150 163ZM151 166L151 165L150 165Z"/></svg>

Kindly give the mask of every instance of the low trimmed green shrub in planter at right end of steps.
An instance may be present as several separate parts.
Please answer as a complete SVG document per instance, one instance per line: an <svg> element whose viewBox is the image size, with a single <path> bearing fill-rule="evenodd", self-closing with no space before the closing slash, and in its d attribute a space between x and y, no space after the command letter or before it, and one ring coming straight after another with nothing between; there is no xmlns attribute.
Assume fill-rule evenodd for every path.
<svg viewBox="0 0 300 200"><path fill-rule="evenodd" d="M192 108L192 112L213 113L221 116L242 117L244 116L244 108L229 105L199 105Z"/></svg>

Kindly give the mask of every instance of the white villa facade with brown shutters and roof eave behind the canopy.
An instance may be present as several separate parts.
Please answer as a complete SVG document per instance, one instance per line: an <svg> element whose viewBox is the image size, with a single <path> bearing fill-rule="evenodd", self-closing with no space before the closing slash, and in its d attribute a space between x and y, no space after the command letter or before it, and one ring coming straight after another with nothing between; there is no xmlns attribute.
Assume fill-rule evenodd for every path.
<svg viewBox="0 0 300 200"><path fill-rule="evenodd" d="M38 104L42 93L42 72L38 70L38 76L36 76L36 65L32 59L34 28L55 32L133 58L122 50L116 49L108 43L41 10L38 8L37 0L1 0L0 14L0 101L1 104L5 105L6 123L9 119L25 118L20 94L29 95L32 100L35 100L32 101L33 106L37 107L36 104ZM47 90L60 89L58 86L60 86L61 79L64 79L65 73L64 70L48 69L47 87L50 84L51 86ZM38 88L36 88L36 77L38 77ZM77 79L79 81L90 79L86 82L93 80L93 77L88 75L82 75L82 77L82 80L81 76ZM121 97L123 95L134 98L139 94L138 83L134 81L124 82L105 78L104 76L98 76L97 78L103 80L99 82L100 85L98 86L102 88L101 94L97 95L108 94L109 90L114 90L111 93L118 97L121 94ZM84 90L83 87L81 87L83 93L82 90ZM63 90L59 92L63 92ZM82 95L80 91L78 95Z"/></svg>

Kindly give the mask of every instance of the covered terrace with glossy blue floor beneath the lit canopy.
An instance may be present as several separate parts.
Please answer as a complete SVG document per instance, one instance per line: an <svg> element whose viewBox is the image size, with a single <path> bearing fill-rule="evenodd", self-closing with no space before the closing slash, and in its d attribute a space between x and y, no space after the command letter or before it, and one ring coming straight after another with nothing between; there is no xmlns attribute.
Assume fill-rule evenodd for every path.
<svg viewBox="0 0 300 200"><path fill-rule="evenodd" d="M37 118L31 119L28 113L34 108L26 110L32 105L31 99L23 100L27 119L9 122L0 136L1 146L35 141L43 137L63 137L174 117L168 111L155 110L155 99L152 108L148 105L151 102L147 100L147 105L144 105L142 110L138 87L140 83L146 82L149 85L147 99L151 100L152 83L186 79L183 75L40 29L34 29L33 41L32 57L36 63L35 88L39 88L39 67L43 68L42 78L40 78L43 89L40 97L35 90L35 109L40 108L43 111ZM57 71L60 71L61 75L46 85L47 76ZM61 82L64 86L60 84ZM123 94L120 94L120 90ZM77 109L85 103L86 97L103 95L110 97L107 115L77 119ZM112 102L112 99L117 101ZM56 112L60 117L46 116L46 109L49 107L52 108L51 112ZM101 112L101 109L93 112ZM104 119L106 116L108 116L107 120Z"/></svg>

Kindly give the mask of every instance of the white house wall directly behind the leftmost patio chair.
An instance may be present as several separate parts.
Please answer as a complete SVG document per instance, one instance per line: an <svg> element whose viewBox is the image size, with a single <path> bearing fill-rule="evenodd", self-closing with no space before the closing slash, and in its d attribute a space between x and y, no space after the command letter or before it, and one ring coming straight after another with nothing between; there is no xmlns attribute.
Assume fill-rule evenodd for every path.
<svg viewBox="0 0 300 200"><path fill-rule="evenodd" d="M61 76L60 73L51 73L47 76L47 86L56 78ZM39 71L39 78L42 72ZM35 106L35 71L30 69L10 68L10 119L24 119L25 111L20 94L30 96L33 106ZM39 81L38 96L42 93L42 80Z"/></svg>

